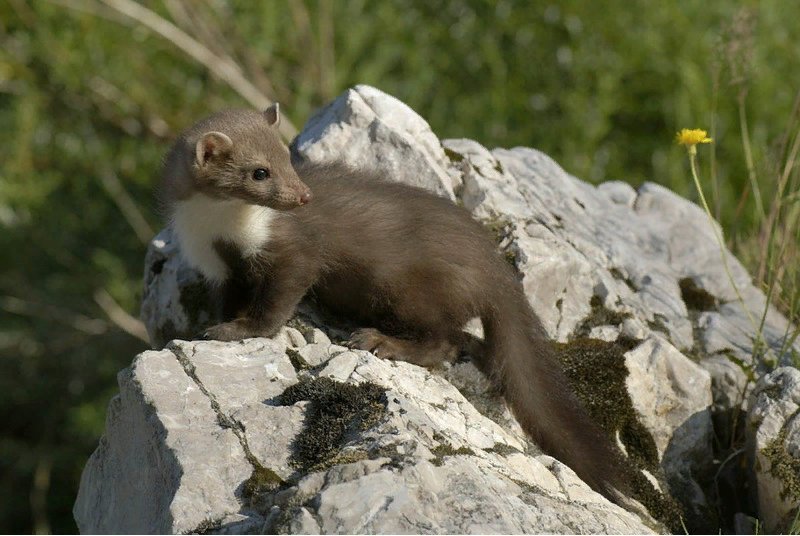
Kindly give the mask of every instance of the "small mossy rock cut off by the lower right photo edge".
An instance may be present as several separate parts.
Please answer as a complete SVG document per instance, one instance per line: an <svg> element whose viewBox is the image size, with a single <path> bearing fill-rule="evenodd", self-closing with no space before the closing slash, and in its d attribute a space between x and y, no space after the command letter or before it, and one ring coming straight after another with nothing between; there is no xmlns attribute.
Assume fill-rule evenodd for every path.
<svg viewBox="0 0 800 536"><path fill-rule="evenodd" d="M793 533L800 509L800 370L781 367L759 379L747 423L763 532Z"/></svg>

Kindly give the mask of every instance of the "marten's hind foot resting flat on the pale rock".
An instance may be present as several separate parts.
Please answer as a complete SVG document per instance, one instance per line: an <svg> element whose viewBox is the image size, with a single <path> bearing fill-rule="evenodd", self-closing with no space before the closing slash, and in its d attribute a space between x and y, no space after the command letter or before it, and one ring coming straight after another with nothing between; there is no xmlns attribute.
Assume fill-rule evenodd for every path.
<svg viewBox="0 0 800 536"><path fill-rule="evenodd" d="M350 337L350 345L384 359L407 361L422 367L455 361L460 349L458 344L447 338L401 339L371 328L355 331Z"/></svg>

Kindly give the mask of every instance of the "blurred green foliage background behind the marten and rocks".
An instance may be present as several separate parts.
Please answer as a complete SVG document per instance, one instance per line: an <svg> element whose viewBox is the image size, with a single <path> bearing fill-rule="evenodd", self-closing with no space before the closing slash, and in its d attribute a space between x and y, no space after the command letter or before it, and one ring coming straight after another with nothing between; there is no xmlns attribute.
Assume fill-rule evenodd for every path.
<svg viewBox="0 0 800 536"><path fill-rule="evenodd" d="M108 298L137 316L146 240L161 225L152 192L162 154L199 117L247 105L113 5L0 1L4 532L76 530L72 502L115 374L146 348L112 320ZM751 54L746 109L765 168L800 88L800 3L785 0L144 5L234 59L295 125L367 83L440 137L537 147L593 182L655 181L692 197L672 138L710 127L716 109L714 204L734 241L756 231L749 205L736 209L745 86L730 84L737 60L719 51L739 39ZM742 5L752 42L720 48Z"/></svg>

